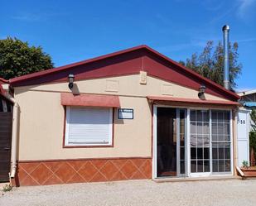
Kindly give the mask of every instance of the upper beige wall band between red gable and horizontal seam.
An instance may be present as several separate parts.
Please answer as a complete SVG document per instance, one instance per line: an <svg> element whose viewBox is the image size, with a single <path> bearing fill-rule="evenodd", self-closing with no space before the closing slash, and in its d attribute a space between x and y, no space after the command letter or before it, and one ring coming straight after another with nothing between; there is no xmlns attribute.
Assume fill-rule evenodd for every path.
<svg viewBox="0 0 256 206"><path fill-rule="evenodd" d="M178 84L171 84L161 79L147 76L147 84L139 84L140 75L118 76L106 79L89 79L75 81L80 93L103 93L133 97L147 97L159 95L171 95L179 98L198 98L198 90L188 89ZM67 83L41 84L15 89L15 93L27 91L47 91L47 92L70 92ZM225 100L205 93L206 99Z"/></svg>

